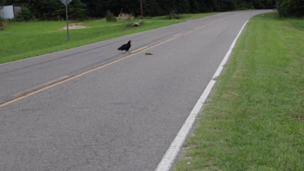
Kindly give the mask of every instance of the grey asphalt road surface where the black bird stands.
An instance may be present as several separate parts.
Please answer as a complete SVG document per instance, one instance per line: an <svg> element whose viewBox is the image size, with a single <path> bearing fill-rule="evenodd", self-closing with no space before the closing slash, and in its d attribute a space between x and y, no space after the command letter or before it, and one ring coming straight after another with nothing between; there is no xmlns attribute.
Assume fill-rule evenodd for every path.
<svg viewBox="0 0 304 171"><path fill-rule="evenodd" d="M243 23L270 11L225 12L0 65L0 170L154 170ZM146 50L116 50L129 39L130 51Z"/></svg>

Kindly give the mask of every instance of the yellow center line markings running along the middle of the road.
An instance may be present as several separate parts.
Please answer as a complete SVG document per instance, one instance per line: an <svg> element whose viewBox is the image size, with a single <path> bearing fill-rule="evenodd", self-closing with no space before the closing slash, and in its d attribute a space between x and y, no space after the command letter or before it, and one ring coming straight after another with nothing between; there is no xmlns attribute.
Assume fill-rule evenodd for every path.
<svg viewBox="0 0 304 171"><path fill-rule="evenodd" d="M19 101L19 100L21 100L21 99L23 99L23 98L26 98L26 97L28 97L28 96L34 95L34 94L36 94L36 93L38 93L38 92L44 91L44 90L49 89L49 88L54 87L54 86L57 86L57 85L59 85L59 84L62 84L62 83L64 83L64 82L67 82L67 81L69 81L69 80L78 78L78 77L80 77L80 76L82 76L82 75L85 75L85 74L90 73L90 72L92 72L92 71L98 70L98 69L100 69L100 68L102 68L102 67L105 67L105 66L108 66L108 65L110 65L110 64L116 63L116 62L118 62L118 61L120 61L120 60L123 60L123 59L125 59L125 58L131 57L131 56L133 56L133 55L136 55L136 54L138 54L138 53L140 53L140 52L142 52L142 51L151 49L151 48L156 47L156 46L158 46L158 45L160 45L160 44L166 43L166 42L171 41L171 40L173 40L173 39L175 39L175 38L178 38L178 37L180 37L180 36L186 35L186 34L188 34L188 33L190 33L190 32L193 32L193 31L195 31L195 30L198 30L198 29L200 29L200 28L202 28L202 27L205 27L205 26L207 26L207 25L210 25L210 24L212 24L212 23L215 23L215 22L217 22L218 20L220 20L220 19L217 19L217 20L215 20L215 21L213 21L213 22L211 22L211 23L209 23L209 24L202 25L202 26L200 26L200 27L198 27L198 28L195 28L195 29L193 29L193 30L190 30L190 31L188 31L188 32L185 32L185 33L176 35L175 37L172 37L172 38L169 38L169 39L167 39L167 40L164 40L164 41L162 41L162 42L160 42L160 43L157 43L157 44L155 44L155 45L153 45L153 46L150 46L150 47L148 47L148 48L144 48L144 49L140 49L140 50L138 49L139 51L137 51L137 52L134 52L134 53L129 54L129 55L127 55L127 56L121 57L121 58L119 58L119 59L117 59L117 60L113 60L113 61L111 61L111 62L109 62L109 63L100 65L100 66L95 67L95 68L93 68L93 69L90 69L90 70L88 70L88 71L85 71L85 72L79 73L79 74L77 74L77 75L71 76L71 77L69 77L69 78L67 78L67 79L58 81L58 82L56 82L56 83L54 83L54 84L45 86L45 87L43 87L43 88L41 88L41 89L32 91L32 92L30 92L30 93L28 93L28 94L25 94L25 95L23 95L23 96L19 96L19 97L14 98L14 99L12 99L12 100L10 100L10 101L6 101L6 102L0 104L0 107L6 106L6 105L11 104L11 103L16 102L16 101Z"/></svg>

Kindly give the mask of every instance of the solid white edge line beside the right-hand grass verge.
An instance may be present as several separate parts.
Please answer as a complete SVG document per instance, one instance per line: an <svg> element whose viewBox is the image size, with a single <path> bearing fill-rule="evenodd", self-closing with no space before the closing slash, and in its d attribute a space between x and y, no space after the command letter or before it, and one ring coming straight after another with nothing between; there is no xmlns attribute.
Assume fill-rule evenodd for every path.
<svg viewBox="0 0 304 171"><path fill-rule="evenodd" d="M199 99L197 100L196 104L194 105L193 109L191 110L190 114L188 115L187 119L185 120L185 122L183 123L183 125L181 126L179 131L177 132L176 136L174 137L174 139L171 142L168 149L165 151L165 153L164 153L163 157L161 158L160 162L158 163L155 171L169 170L171 168L183 142L185 141L189 131L191 130L191 128L193 126L193 123L195 121L197 114L201 111L203 103L205 102L212 87L214 86L214 84L216 82L216 80L214 80L213 78L216 78L220 74L220 72L223 68L223 65L226 63L227 59L229 58L229 56L232 52L232 48L234 47L236 40L238 39L240 33L242 32L242 30L245 27L247 22L248 22L248 20L243 24L243 26L239 30L238 34L234 38L230 48L228 49L227 53L225 54L224 58L222 59L221 63L219 64L218 68L216 69L212 79L207 84L206 88L200 95Z"/></svg>

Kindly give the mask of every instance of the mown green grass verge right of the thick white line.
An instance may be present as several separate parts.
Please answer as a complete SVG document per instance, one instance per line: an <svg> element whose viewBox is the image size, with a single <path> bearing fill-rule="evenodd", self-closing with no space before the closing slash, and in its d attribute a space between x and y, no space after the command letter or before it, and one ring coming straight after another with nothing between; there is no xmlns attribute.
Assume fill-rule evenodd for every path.
<svg viewBox="0 0 304 171"><path fill-rule="evenodd" d="M304 170L303 29L248 22L173 170Z"/></svg>

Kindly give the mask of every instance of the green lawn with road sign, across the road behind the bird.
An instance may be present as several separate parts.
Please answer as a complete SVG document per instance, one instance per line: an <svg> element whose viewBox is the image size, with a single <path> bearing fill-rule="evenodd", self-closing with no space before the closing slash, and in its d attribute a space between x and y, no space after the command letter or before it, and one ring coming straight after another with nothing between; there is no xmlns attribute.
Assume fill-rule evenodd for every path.
<svg viewBox="0 0 304 171"><path fill-rule="evenodd" d="M187 19L194 19L212 14L216 13L184 14L183 16ZM146 31L185 20L162 20L152 17L145 19L144 24L136 28L126 26L132 21L86 20L82 22L82 25L90 26L90 28L70 29L70 41L68 42L66 41L66 30L59 30L65 26L65 21L9 22L8 27L4 31L0 31L0 63Z"/></svg>

